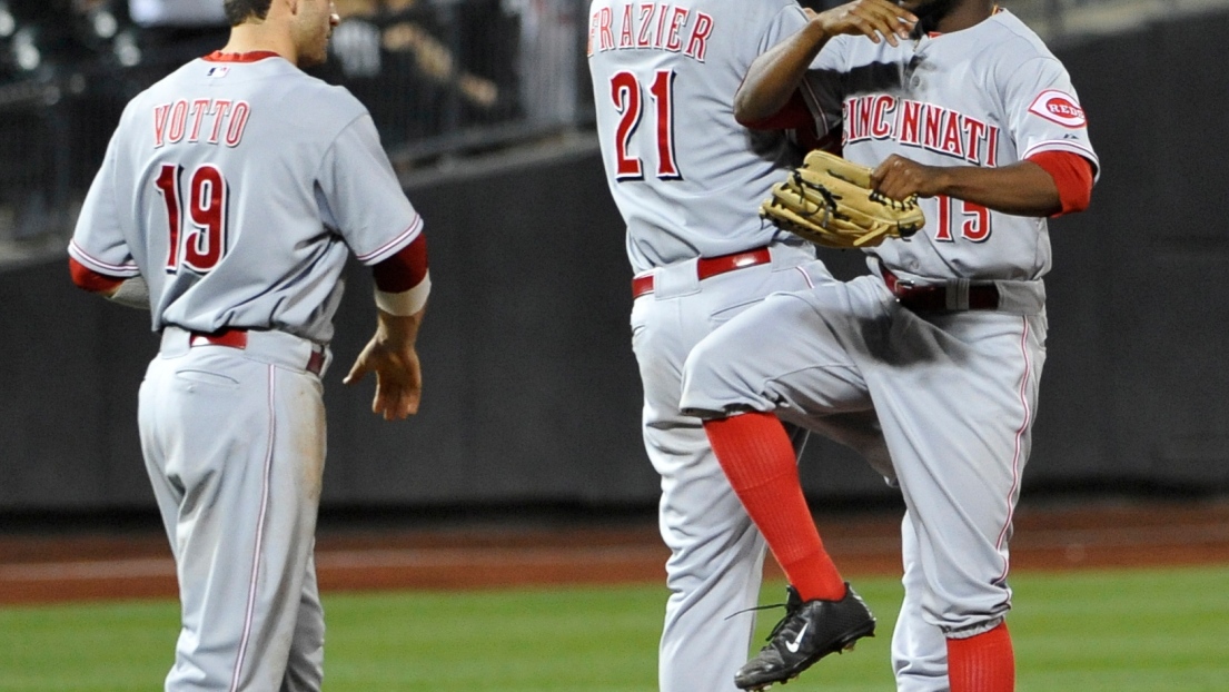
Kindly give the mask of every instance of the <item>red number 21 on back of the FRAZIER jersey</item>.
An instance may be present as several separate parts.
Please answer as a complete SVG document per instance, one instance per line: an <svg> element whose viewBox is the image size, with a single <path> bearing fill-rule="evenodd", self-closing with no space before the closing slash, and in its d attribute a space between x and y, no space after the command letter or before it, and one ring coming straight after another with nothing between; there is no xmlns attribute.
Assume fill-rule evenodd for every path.
<svg viewBox="0 0 1229 692"><path fill-rule="evenodd" d="M653 81L644 88L640 80L632 73L616 73L611 77L611 101L619 113L614 130L614 177L622 181L644 179L644 162L632 154L633 138L648 136L654 140L658 178L677 181L683 176L678 172L675 160L675 108L673 108L673 70L658 70ZM654 104L654 128L640 130L644 116L645 92Z"/></svg>

